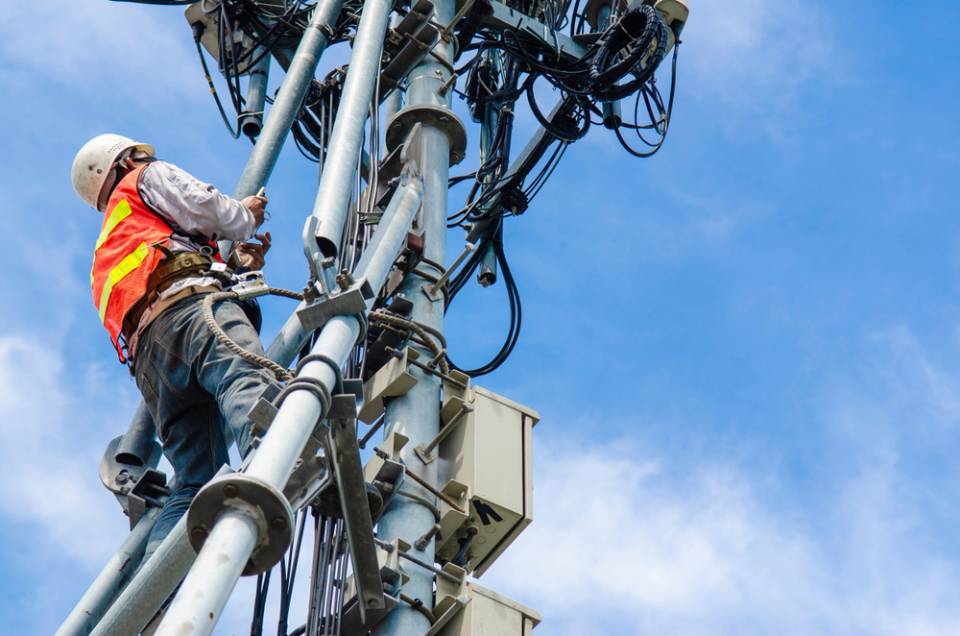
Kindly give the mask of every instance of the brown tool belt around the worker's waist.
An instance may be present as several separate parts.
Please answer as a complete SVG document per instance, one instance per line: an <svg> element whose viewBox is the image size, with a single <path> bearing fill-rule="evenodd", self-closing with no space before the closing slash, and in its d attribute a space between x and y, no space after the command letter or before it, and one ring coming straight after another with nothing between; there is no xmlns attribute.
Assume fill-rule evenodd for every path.
<svg viewBox="0 0 960 636"><path fill-rule="evenodd" d="M170 250L154 246L166 253L166 258L160 261L157 268L150 274L147 281L147 293L144 294L137 304L135 304L123 319L123 334L127 342L131 341L137 327L140 325L140 319L151 305L160 298L160 294L169 289L177 281L186 278L213 277L221 285L229 284L231 272L226 268L217 271L214 268L214 260L211 256L201 252L178 252L174 254ZM207 291L220 291L222 287L214 285L204 285L196 287L187 287L162 302L164 307L156 307L151 318L156 318L164 309L171 307L183 298L195 293Z"/></svg>

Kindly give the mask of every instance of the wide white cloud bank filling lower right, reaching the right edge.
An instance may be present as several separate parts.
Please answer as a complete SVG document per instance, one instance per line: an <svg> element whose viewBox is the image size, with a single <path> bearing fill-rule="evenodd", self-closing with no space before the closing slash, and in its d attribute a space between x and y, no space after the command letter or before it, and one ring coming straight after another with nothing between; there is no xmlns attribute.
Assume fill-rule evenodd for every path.
<svg viewBox="0 0 960 636"><path fill-rule="evenodd" d="M544 429L534 523L483 582L541 610L541 636L960 633L960 374L904 328L867 348L818 393L799 481Z"/></svg>

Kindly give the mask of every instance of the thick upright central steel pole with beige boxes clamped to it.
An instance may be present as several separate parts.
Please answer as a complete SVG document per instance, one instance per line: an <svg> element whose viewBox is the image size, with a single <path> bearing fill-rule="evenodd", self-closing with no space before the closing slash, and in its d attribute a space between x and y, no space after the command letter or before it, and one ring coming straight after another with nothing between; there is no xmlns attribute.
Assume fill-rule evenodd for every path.
<svg viewBox="0 0 960 636"><path fill-rule="evenodd" d="M435 0L436 21L449 24L455 13L454 0ZM409 75L404 111L419 106L450 107L450 93L440 93L440 88L450 77L449 62L453 59L453 44L441 39L434 48L434 55L442 58L442 64L433 55L424 58ZM423 206L419 218L424 234L424 256L434 263L444 262L446 221L447 221L447 179L450 172L450 139L435 119L421 122L422 153L418 157L420 171L424 179ZM437 272L438 274L440 272ZM416 274L407 274L400 291L413 303L413 320L437 330L443 329L443 300L431 300L423 291L429 282ZM403 460L431 483L436 483L437 464L424 466L414 454L419 444L429 442L440 428L440 383L439 380L420 369L411 369L417 377L417 384L406 395L393 399L386 409L385 433L397 431L409 438ZM408 481L403 486L429 501L435 498L425 489ZM413 543L427 530L433 527L433 513L415 501L406 497L396 497L387 513L381 517L378 534L380 538L391 541L401 538ZM416 556L433 563L434 544L428 542L423 550L415 551ZM427 609L433 607L434 575L423 568L408 571L410 580L403 586L407 596L420 600ZM394 636L416 636L424 634L430 628L427 619L412 607L401 603L390 612L375 630L376 634Z"/></svg>

